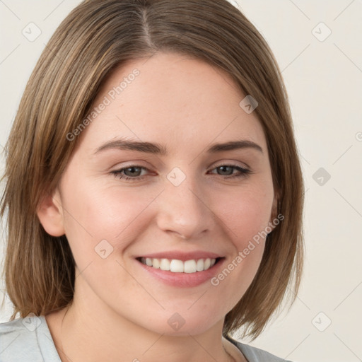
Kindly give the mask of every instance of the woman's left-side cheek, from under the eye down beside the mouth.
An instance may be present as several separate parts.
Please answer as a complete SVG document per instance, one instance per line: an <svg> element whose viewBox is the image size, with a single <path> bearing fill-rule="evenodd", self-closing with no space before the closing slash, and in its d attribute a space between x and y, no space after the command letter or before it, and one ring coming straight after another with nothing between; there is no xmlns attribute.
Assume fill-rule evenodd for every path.
<svg viewBox="0 0 362 362"><path fill-rule="evenodd" d="M134 279L119 265L123 264L119 256L149 226L147 206L158 193L148 190L140 194L136 187L107 188L74 181L68 184L72 185L71 192L64 197L64 221L66 238L83 279L94 290L138 290Z"/></svg>

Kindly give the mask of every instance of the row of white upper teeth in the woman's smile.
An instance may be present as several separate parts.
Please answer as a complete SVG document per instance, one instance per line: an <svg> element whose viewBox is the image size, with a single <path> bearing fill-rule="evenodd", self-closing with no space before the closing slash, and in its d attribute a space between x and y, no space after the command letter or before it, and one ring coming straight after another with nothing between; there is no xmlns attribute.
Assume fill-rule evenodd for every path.
<svg viewBox="0 0 362 362"><path fill-rule="evenodd" d="M191 259L182 262L182 260L177 259L169 260L141 257L141 263L155 269L173 271L173 273L196 273L197 271L204 271L211 268L216 263L216 259Z"/></svg>

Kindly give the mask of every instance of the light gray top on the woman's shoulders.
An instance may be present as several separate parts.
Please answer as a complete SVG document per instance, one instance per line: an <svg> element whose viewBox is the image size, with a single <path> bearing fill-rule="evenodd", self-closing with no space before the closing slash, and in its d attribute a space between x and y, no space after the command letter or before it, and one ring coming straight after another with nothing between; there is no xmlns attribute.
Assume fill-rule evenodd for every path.
<svg viewBox="0 0 362 362"><path fill-rule="evenodd" d="M230 340L248 362L290 362L247 344ZM0 362L62 362L44 315L0 323Z"/></svg>

